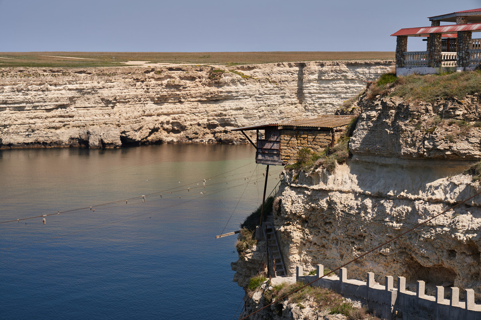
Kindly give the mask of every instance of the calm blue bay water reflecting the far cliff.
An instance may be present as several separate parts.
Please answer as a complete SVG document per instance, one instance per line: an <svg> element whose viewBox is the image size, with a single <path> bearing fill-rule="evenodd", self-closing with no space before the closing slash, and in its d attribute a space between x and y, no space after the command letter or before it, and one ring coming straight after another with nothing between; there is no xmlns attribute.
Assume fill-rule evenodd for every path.
<svg viewBox="0 0 481 320"><path fill-rule="evenodd" d="M215 235L262 201L253 159L249 145L0 151L0 222L119 201L0 224L0 319L232 319L236 237Z"/></svg>

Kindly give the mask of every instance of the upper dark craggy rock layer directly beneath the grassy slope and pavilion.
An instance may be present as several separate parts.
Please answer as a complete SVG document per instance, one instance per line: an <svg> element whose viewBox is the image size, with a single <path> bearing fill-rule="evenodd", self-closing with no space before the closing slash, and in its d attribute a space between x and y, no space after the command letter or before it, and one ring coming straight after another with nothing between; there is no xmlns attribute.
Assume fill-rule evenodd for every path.
<svg viewBox="0 0 481 320"><path fill-rule="evenodd" d="M481 128L455 121L478 121L478 96L439 99L436 103L405 102L398 97L367 101L349 144L357 156L402 159L480 159Z"/></svg>

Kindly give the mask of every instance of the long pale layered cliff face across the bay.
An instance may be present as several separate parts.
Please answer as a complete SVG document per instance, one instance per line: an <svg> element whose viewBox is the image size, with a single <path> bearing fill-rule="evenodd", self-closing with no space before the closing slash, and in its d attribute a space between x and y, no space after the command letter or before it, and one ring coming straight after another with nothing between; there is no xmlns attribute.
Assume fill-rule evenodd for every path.
<svg viewBox="0 0 481 320"><path fill-rule="evenodd" d="M230 129L333 113L392 64L2 68L0 147L246 142Z"/></svg>

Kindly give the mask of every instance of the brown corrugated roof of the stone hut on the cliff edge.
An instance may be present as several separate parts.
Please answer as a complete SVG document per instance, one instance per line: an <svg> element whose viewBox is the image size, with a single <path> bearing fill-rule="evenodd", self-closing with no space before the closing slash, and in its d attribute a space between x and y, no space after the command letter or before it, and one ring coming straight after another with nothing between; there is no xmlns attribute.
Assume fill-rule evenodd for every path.
<svg viewBox="0 0 481 320"><path fill-rule="evenodd" d="M283 121L278 123L266 123L250 127L242 127L232 129L231 131L241 131L241 130L254 130L254 129L265 129L268 127L282 127L284 129L290 129L294 127L301 128L321 128L321 129L333 129L337 127L342 127L349 122L351 122L352 117L346 116L334 116L334 115L324 115L313 119L296 119Z"/></svg>

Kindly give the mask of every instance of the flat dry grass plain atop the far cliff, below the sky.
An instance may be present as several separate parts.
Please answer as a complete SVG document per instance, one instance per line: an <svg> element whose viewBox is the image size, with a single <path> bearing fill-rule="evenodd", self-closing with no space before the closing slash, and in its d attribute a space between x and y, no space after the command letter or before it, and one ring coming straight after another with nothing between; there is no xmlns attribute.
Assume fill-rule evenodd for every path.
<svg viewBox="0 0 481 320"><path fill-rule="evenodd" d="M394 59L394 52L0 52L0 68L113 67L125 66L126 64L121 62L127 61L236 65L289 61L370 59Z"/></svg>

